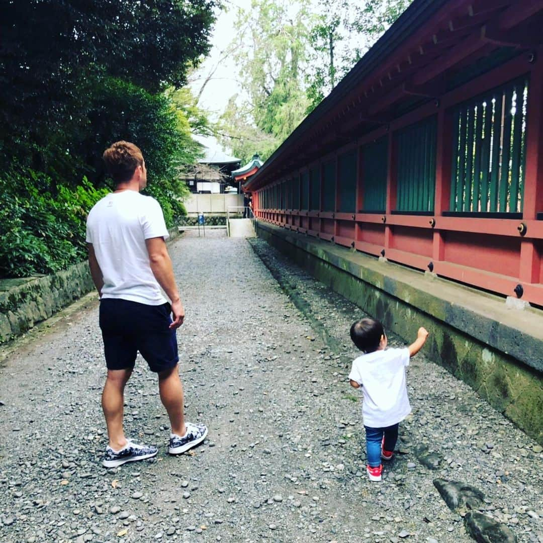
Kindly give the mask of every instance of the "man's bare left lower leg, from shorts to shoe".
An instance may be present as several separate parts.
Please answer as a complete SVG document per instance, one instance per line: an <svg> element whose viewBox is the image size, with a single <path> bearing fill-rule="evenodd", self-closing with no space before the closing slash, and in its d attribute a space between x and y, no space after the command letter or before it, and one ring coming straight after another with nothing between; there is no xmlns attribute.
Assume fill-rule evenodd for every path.
<svg viewBox="0 0 543 543"><path fill-rule="evenodd" d="M132 368L108 370L102 392L102 409L108 426L109 446L114 451L120 451L127 444L123 430L124 387L131 374Z"/></svg>

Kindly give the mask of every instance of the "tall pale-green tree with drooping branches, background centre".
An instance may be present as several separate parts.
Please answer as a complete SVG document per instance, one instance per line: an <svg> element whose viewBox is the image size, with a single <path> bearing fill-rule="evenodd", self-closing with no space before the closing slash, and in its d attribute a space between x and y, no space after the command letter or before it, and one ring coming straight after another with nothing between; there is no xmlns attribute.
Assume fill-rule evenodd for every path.
<svg viewBox="0 0 543 543"><path fill-rule="evenodd" d="M236 151L239 155L250 157L258 151L266 157L304 118L308 105L304 75L313 17L310 0L300 0L296 8L285 0L253 0L250 11L238 12L237 41L232 48L244 94L230 100L220 119L221 139L232 149L251 140L262 146L243 148Z"/></svg>

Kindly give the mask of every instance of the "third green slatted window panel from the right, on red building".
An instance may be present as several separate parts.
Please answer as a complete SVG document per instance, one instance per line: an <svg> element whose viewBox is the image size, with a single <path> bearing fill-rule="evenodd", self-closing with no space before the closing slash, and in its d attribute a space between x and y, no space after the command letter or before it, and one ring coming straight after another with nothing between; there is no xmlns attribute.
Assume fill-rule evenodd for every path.
<svg viewBox="0 0 543 543"><path fill-rule="evenodd" d="M362 151L362 211L384 212L387 205L388 136Z"/></svg>

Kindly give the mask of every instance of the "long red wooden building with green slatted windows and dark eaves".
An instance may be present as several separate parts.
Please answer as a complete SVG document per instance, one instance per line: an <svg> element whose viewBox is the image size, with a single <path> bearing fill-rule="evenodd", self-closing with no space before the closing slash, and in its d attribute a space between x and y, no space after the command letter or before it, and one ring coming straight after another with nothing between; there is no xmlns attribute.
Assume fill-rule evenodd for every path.
<svg viewBox="0 0 543 543"><path fill-rule="evenodd" d="M543 306L543 0L414 0L249 180L258 219Z"/></svg>

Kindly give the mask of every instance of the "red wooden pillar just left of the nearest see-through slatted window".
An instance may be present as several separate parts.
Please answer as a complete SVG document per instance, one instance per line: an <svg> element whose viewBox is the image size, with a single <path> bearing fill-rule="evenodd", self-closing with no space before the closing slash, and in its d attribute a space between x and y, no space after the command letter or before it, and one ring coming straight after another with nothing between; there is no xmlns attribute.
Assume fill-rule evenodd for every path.
<svg viewBox="0 0 543 543"><path fill-rule="evenodd" d="M435 156L434 219L439 228L439 217L449 209L451 196L452 123L450 114L441 107L438 111L437 149ZM440 230L433 233L432 260L444 260L445 237Z"/></svg>

